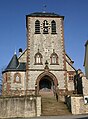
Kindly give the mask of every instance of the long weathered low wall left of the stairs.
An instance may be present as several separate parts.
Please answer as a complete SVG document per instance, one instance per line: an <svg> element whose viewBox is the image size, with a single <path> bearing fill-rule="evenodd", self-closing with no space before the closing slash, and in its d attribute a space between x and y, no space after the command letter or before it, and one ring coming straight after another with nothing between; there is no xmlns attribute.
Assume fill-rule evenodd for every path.
<svg viewBox="0 0 88 119"><path fill-rule="evenodd" d="M0 118L41 115L41 97L0 97Z"/></svg>

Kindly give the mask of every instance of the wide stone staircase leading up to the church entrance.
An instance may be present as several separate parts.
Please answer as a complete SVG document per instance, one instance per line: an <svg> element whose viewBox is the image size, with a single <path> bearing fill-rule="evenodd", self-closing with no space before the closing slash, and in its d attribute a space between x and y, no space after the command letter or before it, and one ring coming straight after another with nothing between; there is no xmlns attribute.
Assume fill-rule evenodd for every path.
<svg viewBox="0 0 88 119"><path fill-rule="evenodd" d="M43 93L42 95L42 116L71 115L66 104L56 100L52 93Z"/></svg>

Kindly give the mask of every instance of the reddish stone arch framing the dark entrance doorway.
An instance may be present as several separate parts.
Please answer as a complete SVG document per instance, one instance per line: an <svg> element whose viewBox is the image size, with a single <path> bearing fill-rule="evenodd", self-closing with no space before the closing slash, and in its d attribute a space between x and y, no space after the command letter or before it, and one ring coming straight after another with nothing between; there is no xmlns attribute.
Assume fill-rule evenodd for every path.
<svg viewBox="0 0 88 119"><path fill-rule="evenodd" d="M51 73L51 72L43 72L43 73L41 73L38 77L37 77L37 80L36 80L36 91L37 91L37 93L39 93L39 83L40 83L40 81L45 77L45 76L47 76L47 77L50 77L50 79L52 80L52 82L54 83L54 86L55 87L57 87L57 85L58 85L58 80L57 80L57 78L56 78L56 76L53 74L53 73Z"/></svg>

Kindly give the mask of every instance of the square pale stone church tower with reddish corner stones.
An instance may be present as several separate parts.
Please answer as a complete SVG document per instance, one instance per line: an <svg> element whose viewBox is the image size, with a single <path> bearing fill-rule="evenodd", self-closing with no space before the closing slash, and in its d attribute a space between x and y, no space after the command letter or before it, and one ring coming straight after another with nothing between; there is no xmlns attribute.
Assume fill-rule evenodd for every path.
<svg viewBox="0 0 88 119"><path fill-rule="evenodd" d="M64 47L64 16L36 12L26 16L27 92L67 90Z"/></svg>

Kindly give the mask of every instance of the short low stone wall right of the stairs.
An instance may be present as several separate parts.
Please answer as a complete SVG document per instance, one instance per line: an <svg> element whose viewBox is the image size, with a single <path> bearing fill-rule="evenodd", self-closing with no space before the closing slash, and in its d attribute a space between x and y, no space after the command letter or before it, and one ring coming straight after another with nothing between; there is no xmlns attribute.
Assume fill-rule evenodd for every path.
<svg viewBox="0 0 88 119"><path fill-rule="evenodd" d="M72 114L88 114L88 104L83 97L71 97L71 111Z"/></svg>

